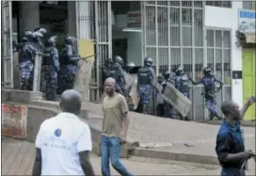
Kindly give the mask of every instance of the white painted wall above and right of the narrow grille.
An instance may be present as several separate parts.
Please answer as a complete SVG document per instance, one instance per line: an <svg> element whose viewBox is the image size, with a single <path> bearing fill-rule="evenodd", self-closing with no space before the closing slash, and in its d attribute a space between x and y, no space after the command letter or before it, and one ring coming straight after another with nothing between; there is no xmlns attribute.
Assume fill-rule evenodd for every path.
<svg viewBox="0 0 256 176"><path fill-rule="evenodd" d="M243 2L232 2L232 8L217 8L206 6L205 25L232 29L232 71L242 71L242 47L235 44L235 31L238 28L238 9ZM243 104L243 81L232 80L232 100Z"/></svg>

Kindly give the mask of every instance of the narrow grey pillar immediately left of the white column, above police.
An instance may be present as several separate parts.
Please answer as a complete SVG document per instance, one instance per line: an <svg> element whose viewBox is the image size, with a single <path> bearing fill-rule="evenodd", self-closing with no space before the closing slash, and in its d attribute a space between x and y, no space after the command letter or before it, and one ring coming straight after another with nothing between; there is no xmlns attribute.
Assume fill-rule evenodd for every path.
<svg viewBox="0 0 256 176"><path fill-rule="evenodd" d="M75 1L68 1L68 33L76 36L76 9Z"/></svg>

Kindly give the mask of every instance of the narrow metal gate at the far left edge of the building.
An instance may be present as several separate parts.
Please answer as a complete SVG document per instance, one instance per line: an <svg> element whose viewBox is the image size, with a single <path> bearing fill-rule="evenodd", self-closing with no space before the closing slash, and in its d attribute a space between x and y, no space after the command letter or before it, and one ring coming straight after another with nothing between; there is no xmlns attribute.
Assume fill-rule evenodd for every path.
<svg viewBox="0 0 256 176"><path fill-rule="evenodd" d="M13 88L13 56L12 56L12 11L11 1L2 1L2 52L3 52L3 85Z"/></svg>

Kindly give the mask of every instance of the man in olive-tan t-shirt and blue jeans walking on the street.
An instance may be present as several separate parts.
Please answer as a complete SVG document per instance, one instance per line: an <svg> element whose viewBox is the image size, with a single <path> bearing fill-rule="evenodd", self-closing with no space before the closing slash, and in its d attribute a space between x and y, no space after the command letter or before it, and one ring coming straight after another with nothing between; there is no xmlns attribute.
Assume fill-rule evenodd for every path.
<svg viewBox="0 0 256 176"><path fill-rule="evenodd" d="M115 92L116 81L107 78L104 90L107 96L103 101L104 121L101 136L102 174L110 176L109 159L113 168L120 175L130 176L128 170L120 163L120 148L126 142L129 126L128 106L124 96Z"/></svg>

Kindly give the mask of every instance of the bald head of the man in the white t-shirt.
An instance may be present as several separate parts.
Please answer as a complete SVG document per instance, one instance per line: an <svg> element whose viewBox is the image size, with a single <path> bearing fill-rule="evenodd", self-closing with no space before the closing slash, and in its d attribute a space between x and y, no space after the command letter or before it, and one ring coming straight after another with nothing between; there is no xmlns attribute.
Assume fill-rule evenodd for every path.
<svg viewBox="0 0 256 176"><path fill-rule="evenodd" d="M79 114L81 104L81 95L78 91L67 89L61 94L60 107L62 111Z"/></svg>

